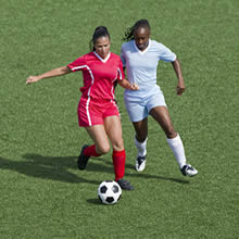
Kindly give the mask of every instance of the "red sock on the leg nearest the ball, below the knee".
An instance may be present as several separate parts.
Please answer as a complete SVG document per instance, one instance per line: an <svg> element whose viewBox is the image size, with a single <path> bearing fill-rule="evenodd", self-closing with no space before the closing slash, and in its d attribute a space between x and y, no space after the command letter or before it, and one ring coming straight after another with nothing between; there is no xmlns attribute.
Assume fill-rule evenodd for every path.
<svg viewBox="0 0 239 239"><path fill-rule="evenodd" d="M125 149L122 151L113 151L112 159L114 164L115 180L118 180L125 175Z"/></svg>

